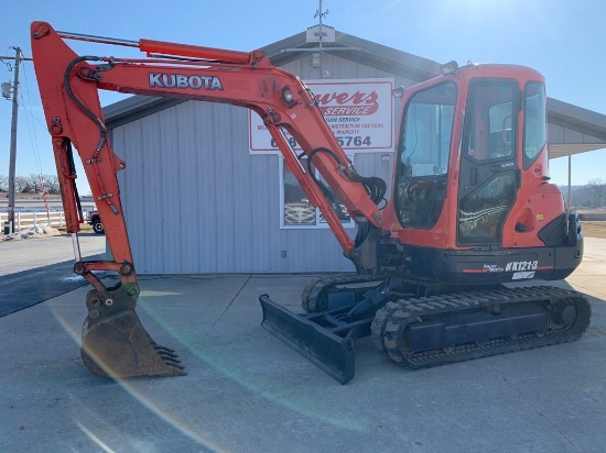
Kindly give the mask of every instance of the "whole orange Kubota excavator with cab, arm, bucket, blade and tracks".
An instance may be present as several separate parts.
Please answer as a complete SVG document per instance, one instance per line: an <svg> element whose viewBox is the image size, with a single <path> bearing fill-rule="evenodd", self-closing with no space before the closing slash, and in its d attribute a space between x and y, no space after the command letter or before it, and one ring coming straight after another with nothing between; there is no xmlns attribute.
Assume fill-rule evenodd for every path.
<svg viewBox="0 0 606 453"><path fill-rule="evenodd" d="M310 201L357 273L316 278L297 314L260 296L262 325L340 383L354 377L354 343L420 368L578 339L587 298L552 286L583 255L576 212L549 183L543 77L513 65L455 64L402 97L393 190L358 175L311 90L261 52L123 41L31 26L32 52L52 135L74 272L93 289L82 356L115 378L186 374L173 350L141 325L136 267L98 90L226 102L257 112ZM65 40L138 47L141 59L78 56ZM297 154L292 136L303 148ZM113 261L85 262L73 147L83 162ZM327 186L315 176L317 169ZM389 200L386 201L386 198ZM357 223L350 237L337 210ZM94 274L111 270L106 287Z"/></svg>

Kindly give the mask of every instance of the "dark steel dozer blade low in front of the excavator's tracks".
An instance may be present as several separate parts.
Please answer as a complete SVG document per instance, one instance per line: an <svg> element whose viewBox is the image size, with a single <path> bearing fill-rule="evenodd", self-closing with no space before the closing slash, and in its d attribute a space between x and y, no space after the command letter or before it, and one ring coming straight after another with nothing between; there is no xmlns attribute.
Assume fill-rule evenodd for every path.
<svg viewBox="0 0 606 453"><path fill-rule="evenodd" d="M274 302L268 295L259 297L263 309L261 325L293 350L306 357L340 384L347 384L355 374L354 343L357 328L339 336L317 322L323 313L297 314ZM368 322L368 324L370 321ZM336 328L340 332L343 329Z"/></svg>

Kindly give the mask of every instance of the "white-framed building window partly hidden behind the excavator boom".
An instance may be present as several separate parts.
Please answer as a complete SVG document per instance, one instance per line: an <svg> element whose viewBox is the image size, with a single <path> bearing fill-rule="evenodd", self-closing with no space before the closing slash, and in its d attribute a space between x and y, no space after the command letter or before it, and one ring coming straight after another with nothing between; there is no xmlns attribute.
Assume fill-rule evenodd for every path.
<svg viewBox="0 0 606 453"><path fill-rule="evenodd" d="M306 158L302 159L303 166L307 167ZM351 220L345 207L338 202L332 189L326 185L324 178L316 172L316 177L325 184L326 188L333 194L335 200L335 211L346 226L355 226L355 222ZM303 191L294 174L289 168L286 162L280 157L280 210L282 228L288 229L315 229L315 228L328 228L328 223L320 212L320 209L314 206L307 199L306 194Z"/></svg>

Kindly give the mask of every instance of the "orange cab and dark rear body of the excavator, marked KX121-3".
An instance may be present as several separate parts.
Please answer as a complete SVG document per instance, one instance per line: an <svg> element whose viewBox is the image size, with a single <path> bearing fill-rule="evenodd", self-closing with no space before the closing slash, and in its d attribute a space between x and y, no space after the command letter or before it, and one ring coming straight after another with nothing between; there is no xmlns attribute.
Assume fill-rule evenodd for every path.
<svg viewBox="0 0 606 453"><path fill-rule="evenodd" d="M513 65L468 65L404 92L386 208L403 272L486 285L578 265L578 219L549 183L545 100L542 76Z"/></svg>

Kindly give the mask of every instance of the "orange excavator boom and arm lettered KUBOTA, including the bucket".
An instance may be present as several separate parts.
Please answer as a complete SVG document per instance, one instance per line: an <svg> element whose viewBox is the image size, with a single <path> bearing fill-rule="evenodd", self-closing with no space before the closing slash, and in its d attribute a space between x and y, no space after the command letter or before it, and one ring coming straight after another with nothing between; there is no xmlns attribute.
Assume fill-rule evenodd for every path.
<svg viewBox="0 0 606 453"><path fill-rule="evenodd" d="M83 360L99 375L181 375L172 350L159 346L142 328L134 307L139 285L125 223L116 174L126 163L112 151L98 90L224 102L257 112L310 201L320 208L346 256L356 262L351 239L344 229L329 192L332 188L351 218L383 229L378 205L386 184L359 176L325 122L313 93L293 74L273 67L261 51L251 53L139 42L57 32L45 22L31 26L32 54L44 113L52 135L67 231L74 239L75 272L94 287L87 296L89 314L83 330ZM138 47L141 59L78 56L65 40L85 40ZM296 154L286 140L303 150ZM73 148L82 159L104 223L113 261L83 262L77 232L83 222L76 189ZM304 164L306 157L306 164ZM360 230L366 230L360 228ZM359 263L356 263L359 264ZM120 284L106 288L95 270L113 270Z"/></svg>

